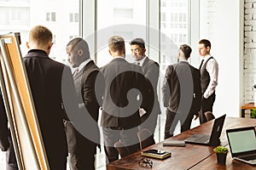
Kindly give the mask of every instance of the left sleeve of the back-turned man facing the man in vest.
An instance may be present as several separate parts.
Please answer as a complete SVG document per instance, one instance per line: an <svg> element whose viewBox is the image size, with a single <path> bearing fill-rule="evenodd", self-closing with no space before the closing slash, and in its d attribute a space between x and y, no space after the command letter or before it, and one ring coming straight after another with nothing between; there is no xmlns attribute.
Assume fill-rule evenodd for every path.
<svg viewBox="0 0 256 170"><path fill-rule="evenodd" d="M169 106L169 100L170 100L170 86L171 86L171 68L170 66L167 67L166 69L166 75L164 78L164 82L163 82L163 87L162 87L162 94L163 94L163 103L165 107Z"/></svg>

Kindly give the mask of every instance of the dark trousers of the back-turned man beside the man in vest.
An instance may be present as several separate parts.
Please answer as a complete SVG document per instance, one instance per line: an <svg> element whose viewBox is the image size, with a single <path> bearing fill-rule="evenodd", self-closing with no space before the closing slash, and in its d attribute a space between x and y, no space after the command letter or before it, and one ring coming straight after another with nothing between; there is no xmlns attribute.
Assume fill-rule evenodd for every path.
<svg viewBox="0 0 256 170"><path fill-rule="evenodd" d="M173 133L175 128L177 127L178 121L180 121L180 124L181 124L181 132L184 132L190 129L193 116L194 116L193 112L189 112L189 114L186 115L186 114L175 113L167 109L165 139L171 138L173 136Z"/></svg>

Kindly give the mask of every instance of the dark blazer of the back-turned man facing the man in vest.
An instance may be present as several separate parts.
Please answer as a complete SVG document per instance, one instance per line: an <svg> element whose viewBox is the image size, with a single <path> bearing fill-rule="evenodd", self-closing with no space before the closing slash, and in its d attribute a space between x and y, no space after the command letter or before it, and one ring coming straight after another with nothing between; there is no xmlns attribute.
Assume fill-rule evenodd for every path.
<svg viewBox="0 0 256 170"><path fill-rule="evenodd" d="M162 87L164 106L175 113L200 111L200 77L200 71L186 61L169 65Z"/></svg>

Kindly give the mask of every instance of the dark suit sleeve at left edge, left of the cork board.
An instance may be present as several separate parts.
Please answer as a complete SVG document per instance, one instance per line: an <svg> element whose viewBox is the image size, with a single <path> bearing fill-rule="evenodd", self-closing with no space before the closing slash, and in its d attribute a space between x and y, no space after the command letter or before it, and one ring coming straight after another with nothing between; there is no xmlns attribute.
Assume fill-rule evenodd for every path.
<svg viewBox="0 0 256 170"><path fill-rule="evenodd" d="M3 103L3 95L0 90L0 148L2 151L6 151L9 148L9 128L8 119Z"/></svg>

